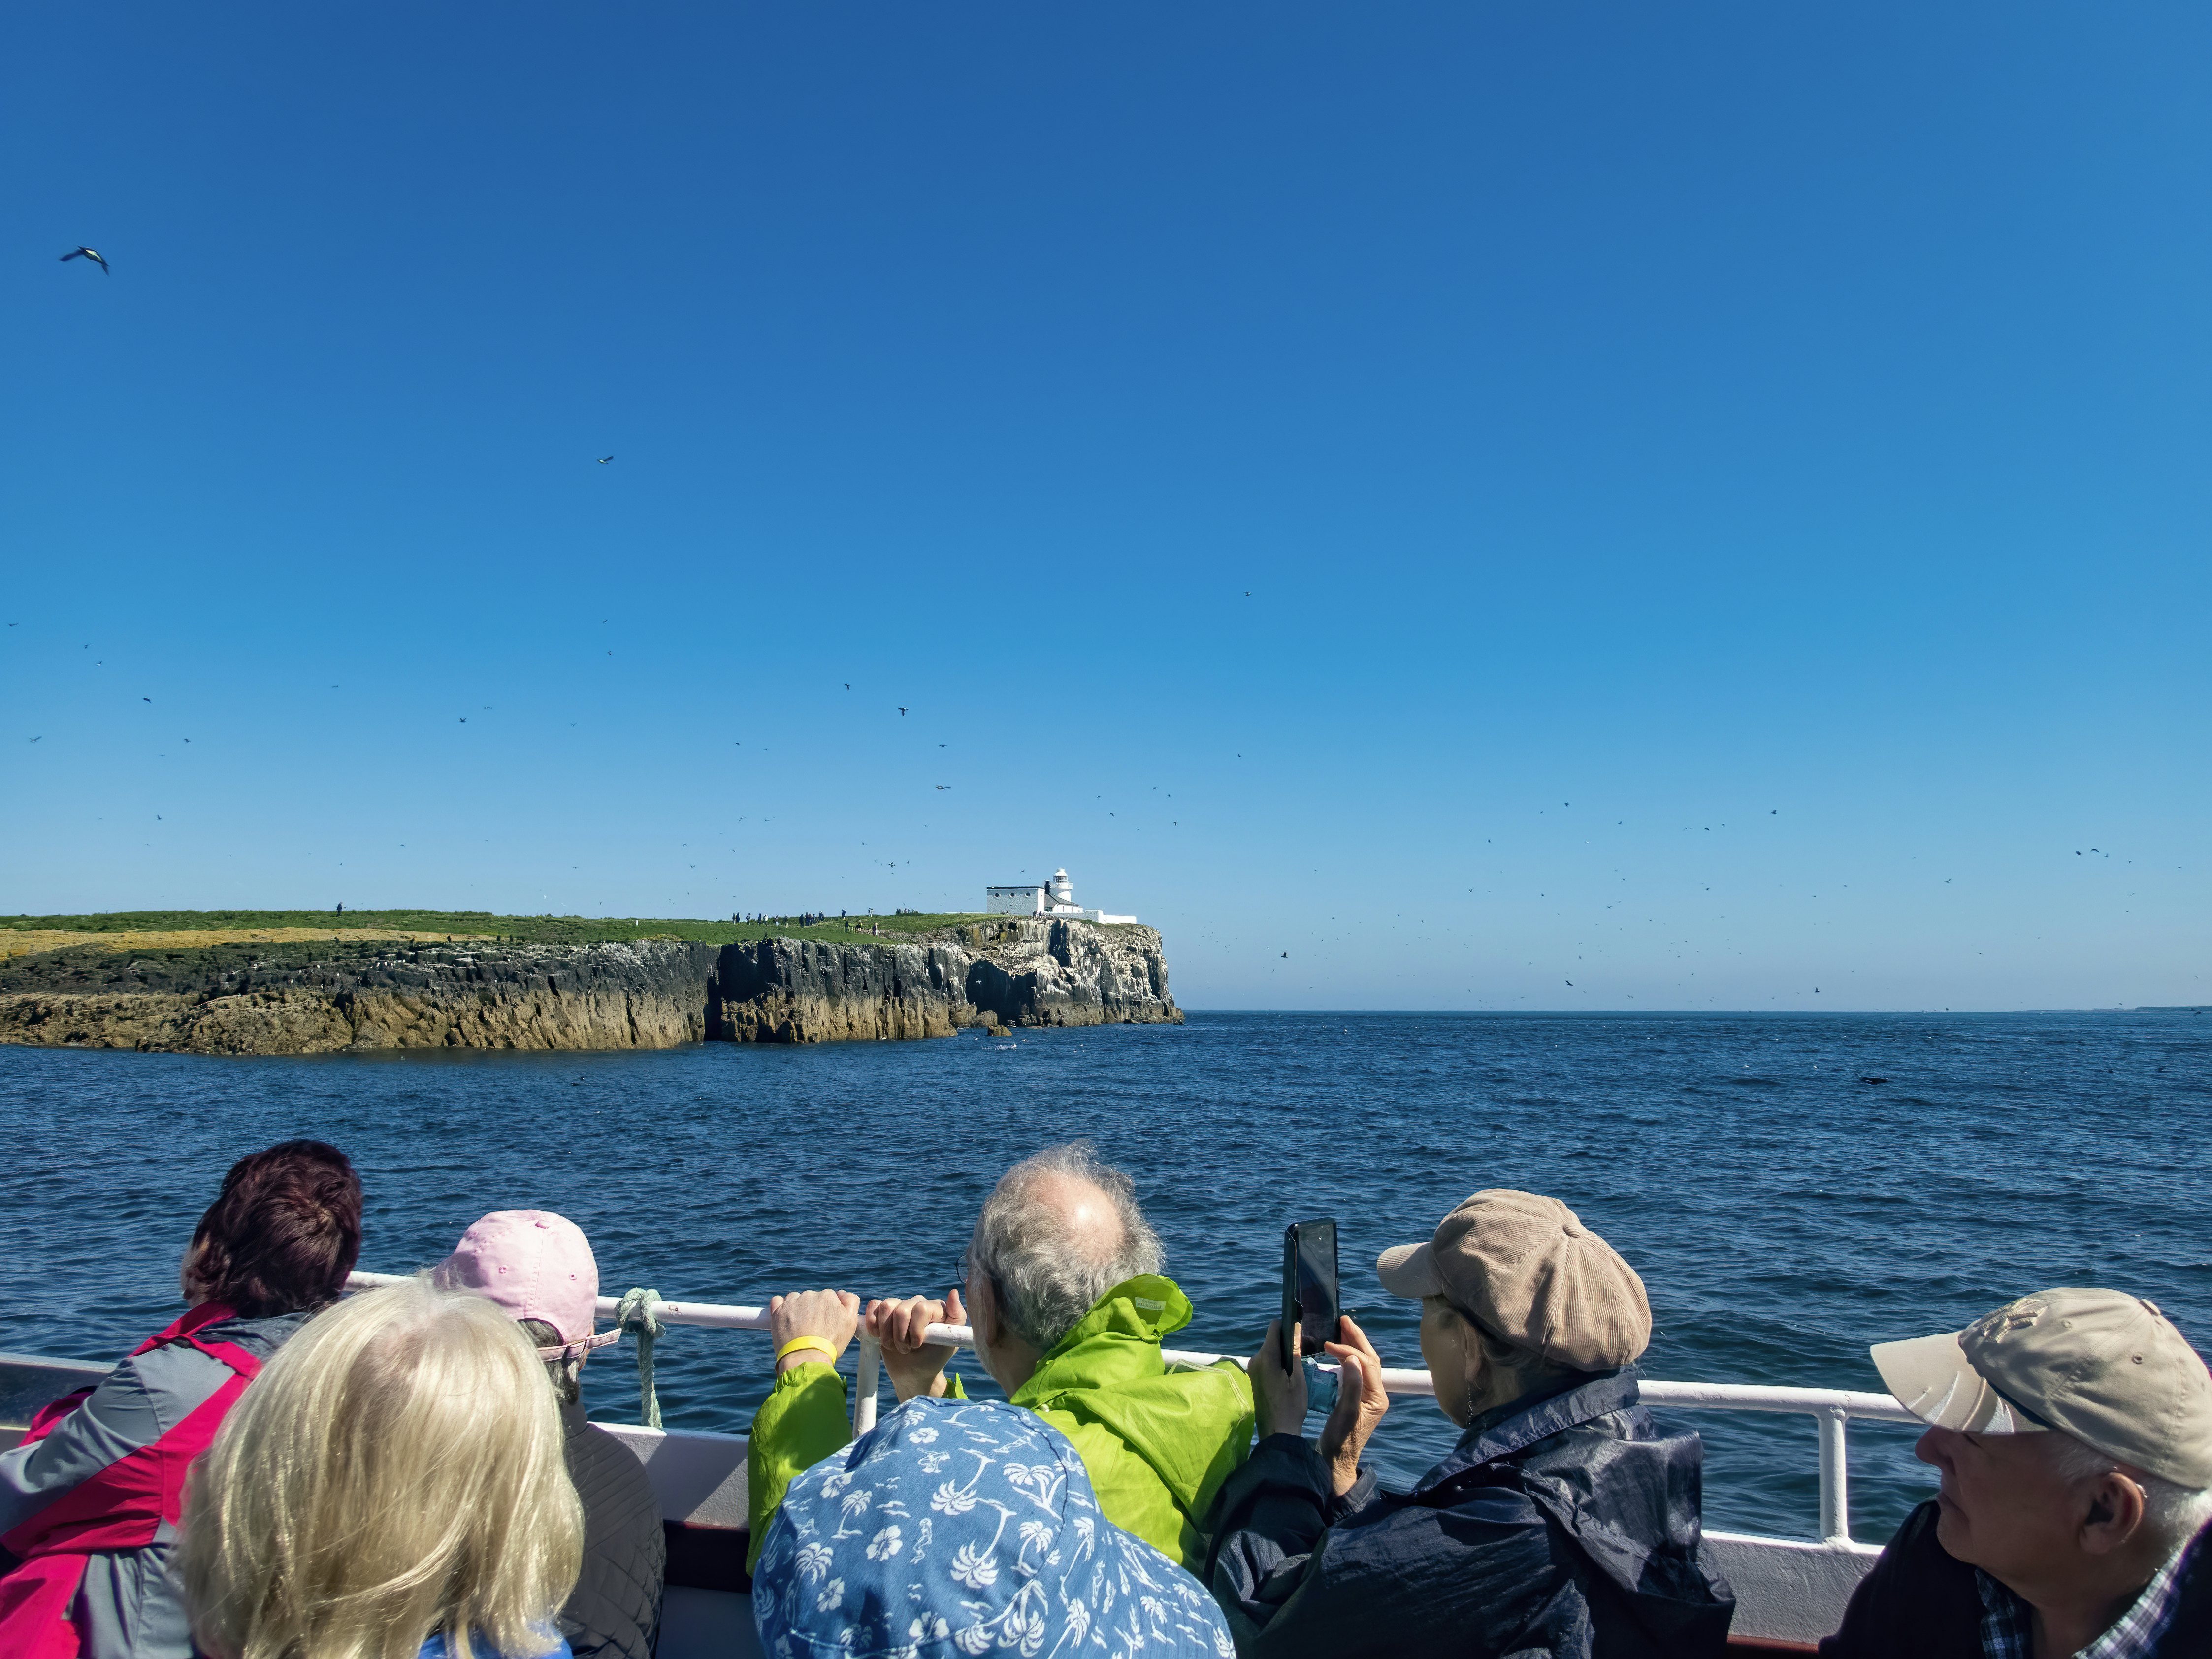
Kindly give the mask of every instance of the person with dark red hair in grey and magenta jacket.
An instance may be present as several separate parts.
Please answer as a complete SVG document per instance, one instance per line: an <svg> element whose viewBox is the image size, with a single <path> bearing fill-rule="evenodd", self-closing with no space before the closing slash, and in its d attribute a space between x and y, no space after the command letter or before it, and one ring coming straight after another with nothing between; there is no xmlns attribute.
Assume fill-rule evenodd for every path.
<svg viewBox="0 0 2212 1659"><path fill-rule="evenodd" d="M230 1166L184 1252L184 1318L0 1455L0 1548L22 1557L0 1577L0 1655L188 1659L170 1573L184 1471L358 1254L361 1179L336 1146Z"/></svg>

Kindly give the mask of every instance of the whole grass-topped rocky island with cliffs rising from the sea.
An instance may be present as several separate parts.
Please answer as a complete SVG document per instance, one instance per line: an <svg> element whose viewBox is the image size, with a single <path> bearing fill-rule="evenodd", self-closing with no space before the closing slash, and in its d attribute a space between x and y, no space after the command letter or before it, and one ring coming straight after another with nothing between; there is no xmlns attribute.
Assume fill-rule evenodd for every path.
<svg viewBox="0 0 2212 1659"><path fill-rule="evenodd" d="M1181 1024L1159 933L1031 914L0 918L0 1042L199 1055L672 1048Z"/></svg>

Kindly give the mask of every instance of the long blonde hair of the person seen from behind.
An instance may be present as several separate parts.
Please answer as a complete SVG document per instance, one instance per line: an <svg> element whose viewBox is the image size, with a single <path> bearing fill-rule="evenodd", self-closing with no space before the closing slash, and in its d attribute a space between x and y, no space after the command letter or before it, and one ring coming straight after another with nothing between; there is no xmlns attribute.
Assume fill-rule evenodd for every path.
<svg viewBox="0 0 2212 1659"><path fill-rule="evenodd" d="M212 1659L538 1659L582 1548L529 1336L414 1279L314 1318L223 1420L184 1597Z"/></svg>

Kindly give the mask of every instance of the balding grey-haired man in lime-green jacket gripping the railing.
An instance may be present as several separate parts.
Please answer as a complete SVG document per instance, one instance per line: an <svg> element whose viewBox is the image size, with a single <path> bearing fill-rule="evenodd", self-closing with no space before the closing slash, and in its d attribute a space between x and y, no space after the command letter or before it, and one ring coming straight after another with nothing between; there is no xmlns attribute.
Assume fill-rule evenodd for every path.
<svg viewBox="0 0 2212 1659"><path fill-rule="evenodd" d="M1164 1267L1130 1179L1084 1141L1051 1146L984 1199L962 1261L964 1305L958 1287L945 1301L878 1301L867 1327L905 1402L964 1398L945 1376L953 1349L927 1329L973 1323L982 1369L1075 1444L1106 1520L1183 1564L1203 1557L1199 1524L1252 1449L1252 1383L1234 1360L1166 1363L1161 1338L1190 1323L1190 1298ZM849 1438L834 1367L860 1327L845 1292L768 1307L776 1385L748 1455L754 1557L790 1480Z"/></svg>

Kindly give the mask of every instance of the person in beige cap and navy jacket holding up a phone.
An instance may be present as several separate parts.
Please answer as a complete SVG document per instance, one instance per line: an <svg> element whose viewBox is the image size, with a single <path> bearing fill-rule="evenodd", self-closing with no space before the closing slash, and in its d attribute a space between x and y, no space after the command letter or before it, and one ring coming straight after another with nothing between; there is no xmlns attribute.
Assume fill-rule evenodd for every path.
<svg viewBox="0 0 2212 1659"><path fill-rule="evenodd" d="M1252 1356L1261 1442L1214 1511L1208 1579L1245 1655L1721 1655L1734 1597L1703 1559L1697 1436L1663 1438L1628 1369L1644 1281L1559 1199L1491 1188L1385 1250L1460 1442L1409 1493L1360 1451L1389 1396L1345 1318L1318 1442L1274 1325Z"/></svg>

